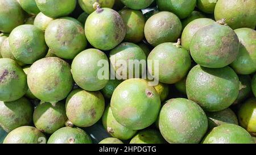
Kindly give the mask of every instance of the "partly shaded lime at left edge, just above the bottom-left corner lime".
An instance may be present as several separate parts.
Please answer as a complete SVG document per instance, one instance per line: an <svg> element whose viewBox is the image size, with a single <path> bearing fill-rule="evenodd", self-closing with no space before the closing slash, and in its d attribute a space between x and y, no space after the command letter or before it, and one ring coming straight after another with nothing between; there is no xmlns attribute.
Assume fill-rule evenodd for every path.
<svg viewBox="0 0 256 155"><path fill-rule="evenodd" d="M34 107L26 98L13 102L0 101L0 124L6 132L32 123Z"/></svg>

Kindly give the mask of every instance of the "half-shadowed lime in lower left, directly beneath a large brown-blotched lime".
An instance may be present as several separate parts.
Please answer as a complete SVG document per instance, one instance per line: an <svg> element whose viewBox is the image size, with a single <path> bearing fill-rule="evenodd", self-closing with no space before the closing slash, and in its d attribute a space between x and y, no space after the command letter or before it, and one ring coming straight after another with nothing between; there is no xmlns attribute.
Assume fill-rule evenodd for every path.
<svg viewBox="0 0 256 155"><path fill-rule="evenodd" d="M42 102L36 106L33 114L35 127L45 133L53 133L65 126L67 120L65 104L63 102Z"/></svg>

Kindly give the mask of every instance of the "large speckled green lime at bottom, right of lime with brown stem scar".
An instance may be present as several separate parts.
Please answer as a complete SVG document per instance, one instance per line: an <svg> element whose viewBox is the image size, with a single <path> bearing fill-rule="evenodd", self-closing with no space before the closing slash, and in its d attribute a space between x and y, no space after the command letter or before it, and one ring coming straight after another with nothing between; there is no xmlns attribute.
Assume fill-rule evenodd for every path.
<svg viewBox="0 0 256 155"><path fill-rule="evenodd" d="M207 116L192 100L170 99L159 114L159 129L168 143L199 143L207 127Z"/></svg>

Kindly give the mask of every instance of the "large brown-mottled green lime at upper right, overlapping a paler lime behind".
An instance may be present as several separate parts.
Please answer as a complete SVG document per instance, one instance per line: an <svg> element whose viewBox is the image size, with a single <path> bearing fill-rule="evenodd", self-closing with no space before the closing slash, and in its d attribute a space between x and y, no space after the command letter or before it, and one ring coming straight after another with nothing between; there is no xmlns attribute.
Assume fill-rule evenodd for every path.
<svg viewBox="0 0 256 155"><path fill-rule="evenodd" d="M197 64L207 68L222 68L236 60L240 43L236 33L218 23L200 28L189 46Z"/></svg>

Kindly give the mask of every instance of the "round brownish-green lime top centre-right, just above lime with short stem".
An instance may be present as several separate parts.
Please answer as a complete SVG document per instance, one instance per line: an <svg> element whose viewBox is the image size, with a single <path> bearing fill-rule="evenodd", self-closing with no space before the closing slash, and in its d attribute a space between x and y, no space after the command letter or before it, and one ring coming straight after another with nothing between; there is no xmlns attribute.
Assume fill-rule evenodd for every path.
<svg viewBox="0 0 256 155"><path fill-rule="evenodd" d="M176 42L181 30L180 19L167 11L152 15L144 27L146 40L154 47L166 42Z"/></svg>

